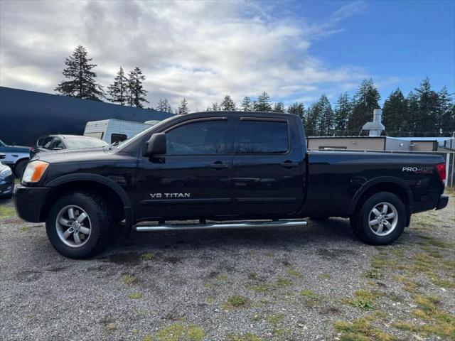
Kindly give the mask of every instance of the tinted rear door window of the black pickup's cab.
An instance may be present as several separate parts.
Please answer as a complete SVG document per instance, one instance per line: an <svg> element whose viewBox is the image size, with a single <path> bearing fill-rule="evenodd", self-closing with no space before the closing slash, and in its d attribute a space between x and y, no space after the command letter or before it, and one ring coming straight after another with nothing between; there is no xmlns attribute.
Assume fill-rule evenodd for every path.
<svg viewBox="0 0 455 341"><path fill-rule="evenodd" d="M287 122L239 121L235 153L285 153L288 149Z"/></svg>

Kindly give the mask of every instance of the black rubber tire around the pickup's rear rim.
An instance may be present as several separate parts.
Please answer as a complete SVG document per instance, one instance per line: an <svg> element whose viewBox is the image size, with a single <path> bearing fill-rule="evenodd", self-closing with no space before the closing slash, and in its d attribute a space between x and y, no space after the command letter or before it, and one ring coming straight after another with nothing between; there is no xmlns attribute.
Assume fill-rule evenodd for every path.
<svg viewBox="0 0 455 341"><path fill-rule="evenodd" d="M370 219L375 219L373 208L378 207L378 205L382 205L385 203L388 204L390 213L394 212L397 216L397 220L395 223L395 227L392 229L381 230L381 233L388 233L385 235L378 235L377 233L373 232L373 227L370 227ZM383 207L383 205L382 205ZM393 211L395 208L395 211ZM390 213L387 216L390 216ZM390 219L392 220L392 219ZM389 221L390 221L389 220ZM362 242L370 245L387 245L392 244L397 240L403 230L405 229L406 224L406 207L405 204L402 202L400 197L393 193L388 192L380 192L371 195L370 197L363 197L363 199L358 203L355 212L352 217L350 217L350 226L353 229L353 233L356 237L358 237ZM391 226L394 226L393 222ZM387 232L391 230L391 232ZM378 232L378 229L376 230Z"/></svg>

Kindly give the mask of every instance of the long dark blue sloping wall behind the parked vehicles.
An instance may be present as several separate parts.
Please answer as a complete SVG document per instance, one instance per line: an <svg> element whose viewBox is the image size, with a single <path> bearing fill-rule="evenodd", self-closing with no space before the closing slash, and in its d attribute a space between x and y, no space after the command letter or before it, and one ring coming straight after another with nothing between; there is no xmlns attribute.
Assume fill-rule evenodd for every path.
<svg viewBox="0 0 455 341"><path fill-rule="evenodd" d="M87 121L123 119L144 122L172 114L156 110L0 87L0 140L33 146L47 134L82 135Z"/></svg>

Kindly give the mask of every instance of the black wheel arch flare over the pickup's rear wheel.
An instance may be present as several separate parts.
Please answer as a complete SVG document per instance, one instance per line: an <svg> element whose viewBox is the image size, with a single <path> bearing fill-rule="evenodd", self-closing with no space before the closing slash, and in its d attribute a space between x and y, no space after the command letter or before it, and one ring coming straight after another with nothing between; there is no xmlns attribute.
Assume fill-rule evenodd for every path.
<svg viewBox="0 0 455 341"><path fill-rule="evenodd" d="M374 178L366 182L354 195L353 200L351 200L349 205L349 215L353 215L355 208L358 205L358 202L362 197L372 195L379 192L390 192L403 201L406 207L406 225L409 226L412 212L412 205L414 199L412 197L412 191L410 186L405 183L405 181L399 178L393 177L380 177Z"/></svg>

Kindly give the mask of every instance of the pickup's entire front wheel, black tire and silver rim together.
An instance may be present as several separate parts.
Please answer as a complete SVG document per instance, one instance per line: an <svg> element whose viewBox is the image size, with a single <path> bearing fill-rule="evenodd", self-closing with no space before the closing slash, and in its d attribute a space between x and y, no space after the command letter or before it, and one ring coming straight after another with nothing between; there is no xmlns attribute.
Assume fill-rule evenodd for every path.
<svg viewBox="0 0 455 341"><path fill-rule="evenodd" d="M95 256L109 243L112 213L95 193L75 192L61 197L50 208L45 222L50 244L63 256Z"/></svg>

